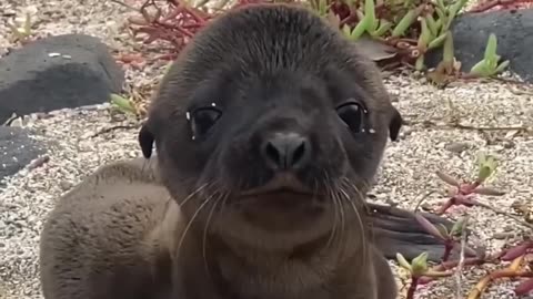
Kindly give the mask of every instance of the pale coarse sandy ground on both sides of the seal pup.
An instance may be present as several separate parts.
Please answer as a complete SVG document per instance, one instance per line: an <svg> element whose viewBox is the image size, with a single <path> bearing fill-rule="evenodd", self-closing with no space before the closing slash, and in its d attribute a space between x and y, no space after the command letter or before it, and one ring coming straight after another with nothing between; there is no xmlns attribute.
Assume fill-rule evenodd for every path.
<svg viewBox="0 0 533 299"><path fill-rule="evenodd" d="M12 3L11 3L12 2ZM129 38L123 21L131 12L110 1L7 1L0 11L27 8L37 12L38 34L84 32L101 38L110 48L132 51L138 47ZM17 7L14 6L17 2ZM39 9L37 9L39 8ZM0 23L0 55L11 43L8 29ZM127 68L129 85L145 87L160 78L164 63ZM401 141L386 150L379 184L373 195L380 202L392 199L402 207L412 208L429 192L442 190L444 185L434 172L440 169L459 177L473 175L473 162L481 153L495 155L500 161L497 174L491 185L503 189L501 197L484 196L484 203L512 213L515 202L533 198L533 136L531 132L512 130L475 131L452 128L447 124L457 118L463 125L480 127L522 126L533 128L533 89L527 85L502 82L457 82L439 90L412 75L391 75L386 86L398 101L395 106L411 123L403 128ZM517 91L520 90L520 92ZM435 125L424 125L428 122ZM48 212L64 192L103 163L140 155L137 130L112 131L95 137L103 128L132 120L117 121L108 105L64 110L48 115L28 117L26 126L41 132L38 138L51 143L49 162L34 169L23 169L11 177L0 190L0 298L41 298L38 280L39 231ZM59 182L59 184L58 184ZM439 194L426 198L435 207L444 199ZM465 209L456 208L452 218ZM509 240L494 238L494 234L532 235L524 226L506 216L473 208L470 227L474 230L472 245L499 250ZM513 235L513 234L511 234ZM402 286L404 274L391 262ZM485 274L489 267L465 271L461 282L461 298ZM483 298L516 298L515 281L497 281ZM418 291L416 298L455 298L455 278L433 282ZM525 297L533 298L533 296Z"/></svg>

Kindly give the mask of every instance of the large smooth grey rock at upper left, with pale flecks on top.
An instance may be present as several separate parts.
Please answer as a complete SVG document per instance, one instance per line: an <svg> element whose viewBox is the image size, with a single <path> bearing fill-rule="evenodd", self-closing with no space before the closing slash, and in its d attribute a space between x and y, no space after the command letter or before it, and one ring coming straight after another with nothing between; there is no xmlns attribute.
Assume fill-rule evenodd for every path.
<svg viewBox="0 0 533 299"><path fill-rule="evenodd" d="M0 59L0 123L26 115L103 103L124 73L105 44L83 34L34 41Z"/></svg>

